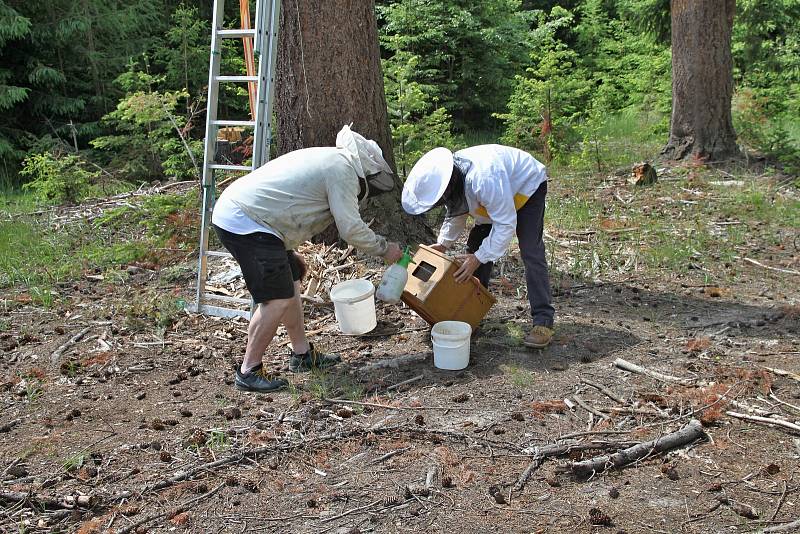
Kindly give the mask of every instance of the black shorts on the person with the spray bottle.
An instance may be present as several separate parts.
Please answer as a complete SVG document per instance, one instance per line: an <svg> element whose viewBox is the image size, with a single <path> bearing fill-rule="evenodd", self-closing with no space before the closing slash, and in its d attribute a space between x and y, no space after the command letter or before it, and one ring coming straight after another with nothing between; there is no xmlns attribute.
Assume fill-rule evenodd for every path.
<svg viewBox="0 0 800 534"><path fill-rule="evenodd" d="M294 296L294 282L300 280L301 269L294 251L286 250L283 241L266 232L239 235L213 226L220 242L241 267L255 302Z"/></svg>

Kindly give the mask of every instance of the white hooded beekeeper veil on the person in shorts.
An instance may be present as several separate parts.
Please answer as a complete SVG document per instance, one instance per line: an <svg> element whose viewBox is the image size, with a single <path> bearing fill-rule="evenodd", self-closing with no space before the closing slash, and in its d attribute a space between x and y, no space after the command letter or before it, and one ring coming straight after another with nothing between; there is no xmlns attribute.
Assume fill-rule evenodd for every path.
<svg viewBox="0 0 800 534"><path fill-rule="evenodd" d="M358 174L361 191L358 199L363 202L369 197L388 193L394 189L394 174L383 159L378 143L364 138L345 125L336 136L336 148L343 150Z"/></svg>

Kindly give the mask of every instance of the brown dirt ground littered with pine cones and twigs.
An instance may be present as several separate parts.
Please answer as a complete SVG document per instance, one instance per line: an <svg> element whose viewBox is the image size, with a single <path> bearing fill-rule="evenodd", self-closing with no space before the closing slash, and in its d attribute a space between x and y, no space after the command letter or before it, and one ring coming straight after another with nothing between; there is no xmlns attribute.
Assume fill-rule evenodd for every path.
<svg viewBox="0 0 800 534"><path fill-rule="evenodd" d="M429 328L408 308L379 304L376 330L353 337L330 304L308 305L312 341L344 362L271 395L232 385L244 320L137 323L142 295L190 299L190 272L89 273L51 308L6 290L0 531L753 532L795 521L800 432L729 415L800 424L800 376L770 370L800 373L797 228L785 231L785 247L751 243L740 256L782 259L787 272L738 262L724 287L694 269L592 281L556 262L557 331L541 351L520 343L528 306L512 253L463 371L433 366ZM285 341L270 365L285 367ZM705 439L572 475L573 462L692 419ZM523 482L556 443L573 447Z"/></svg>

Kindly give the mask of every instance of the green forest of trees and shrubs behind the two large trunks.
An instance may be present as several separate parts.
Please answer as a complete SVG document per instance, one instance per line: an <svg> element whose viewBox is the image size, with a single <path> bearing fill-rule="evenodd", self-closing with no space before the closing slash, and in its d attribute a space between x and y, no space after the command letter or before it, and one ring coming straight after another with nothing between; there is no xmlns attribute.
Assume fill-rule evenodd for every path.
<svg viewBox="0 0 800 534"><path fill-rule="evenodd" d="M400 174L436 145L502 142L595 171L657 155L669 7L377 1ZM0 1L0 192L75 202L197 177L210 18L198 1ZM732 42L738 142L788 174L800 168L797 20L797 0L738 0ZM243 70L241 54L224 56ZM229 91L221 114L246 113L246 96L226 98L246 89Z"/></svg>

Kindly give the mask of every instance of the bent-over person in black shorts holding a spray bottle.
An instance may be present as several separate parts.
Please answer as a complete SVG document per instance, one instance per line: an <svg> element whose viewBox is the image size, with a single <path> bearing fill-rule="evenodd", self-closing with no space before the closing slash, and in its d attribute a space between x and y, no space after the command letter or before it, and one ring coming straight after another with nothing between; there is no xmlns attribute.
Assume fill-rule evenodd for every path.
<svg viewBox="0 0 800 534"><path fill-rule="evenodd" d="M288 382L264 369L263 355L278 325L291 341L289 370L310 371L340 361L306 339L300 280L306 266L294 249L332 222L339 236L387 263L402 257L397 243L376 235L359 214L359 203L391 191L392 170L375 141L345 126L336 147L295 150L243 176L222 192L212 225L242 269L257 304L247 330L236 387L274 391Z"/></svg>

